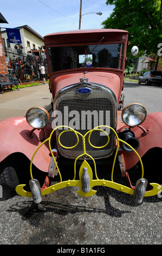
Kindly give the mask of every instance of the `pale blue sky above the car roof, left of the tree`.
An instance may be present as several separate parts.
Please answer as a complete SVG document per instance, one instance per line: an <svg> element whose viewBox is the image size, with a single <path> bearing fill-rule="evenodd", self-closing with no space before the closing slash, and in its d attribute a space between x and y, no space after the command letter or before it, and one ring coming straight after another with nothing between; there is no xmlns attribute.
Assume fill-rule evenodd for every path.
<svg viewBox="0 0 162 256"><path fill-rule="evenodd" d="M113 5L106 5L106 0L82 0L81 29L102 28L102 21L109 17L113 8ZM99 11L101 16L94 14ZM0 13L9 23L1 23L1 27L28 25L44 36L79 29L80 0L5 0Z"/></svg>

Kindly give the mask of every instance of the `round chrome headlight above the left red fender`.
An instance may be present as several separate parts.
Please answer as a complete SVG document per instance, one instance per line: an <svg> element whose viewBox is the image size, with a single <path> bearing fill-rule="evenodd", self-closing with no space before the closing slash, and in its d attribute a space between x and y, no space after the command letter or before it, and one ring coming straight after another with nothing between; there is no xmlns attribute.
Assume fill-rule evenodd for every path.
<svg viewBox="0 0 162 256"><path fill-rule="evenodd" d="M49 113L42 107L30 108L25 117L28 124L35 129L43 129L49 123Z"/></svg>

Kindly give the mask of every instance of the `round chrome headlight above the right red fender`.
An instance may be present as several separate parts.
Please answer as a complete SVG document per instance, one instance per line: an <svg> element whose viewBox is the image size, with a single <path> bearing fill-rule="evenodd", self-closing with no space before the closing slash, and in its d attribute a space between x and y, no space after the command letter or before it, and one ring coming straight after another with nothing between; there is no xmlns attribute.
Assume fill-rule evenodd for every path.
<svg viewBox="0 0 162 256"><path fill-rule="evenodd" d="M146 108L140 103L127 105L122 111L122 120L128 126L134 127L143 123L146 119Z"/></svg>

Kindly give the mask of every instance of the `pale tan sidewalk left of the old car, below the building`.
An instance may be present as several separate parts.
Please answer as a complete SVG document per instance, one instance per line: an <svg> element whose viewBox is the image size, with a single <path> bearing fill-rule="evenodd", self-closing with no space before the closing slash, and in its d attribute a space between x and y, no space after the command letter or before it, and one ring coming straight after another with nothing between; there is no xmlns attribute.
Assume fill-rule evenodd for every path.
<svg viewBox="0 0 162 256"><path fill-rule="evenodd" d="M0 93L0 121L10 117L24 117L30 107L46 108L50 103L48 83Z"/></svg>

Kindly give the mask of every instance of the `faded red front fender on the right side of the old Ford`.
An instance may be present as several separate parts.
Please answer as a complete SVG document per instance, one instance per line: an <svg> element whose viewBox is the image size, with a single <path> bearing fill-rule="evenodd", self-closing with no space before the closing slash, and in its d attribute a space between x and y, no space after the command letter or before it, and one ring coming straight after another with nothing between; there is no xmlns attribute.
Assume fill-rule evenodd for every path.
<svg viewBox="0 0 162 256"><path fill-rule="evenodd" d="M137 150L140 157L144 156L151 148L162 148L162 112L147 114L147 118L141 126L148 131L146 134L140 127L131 129L135 138L138 138L140 142L140 147ZM124 151L123 157L126 170L132 168L139 161L134 152Z"/></svg>

